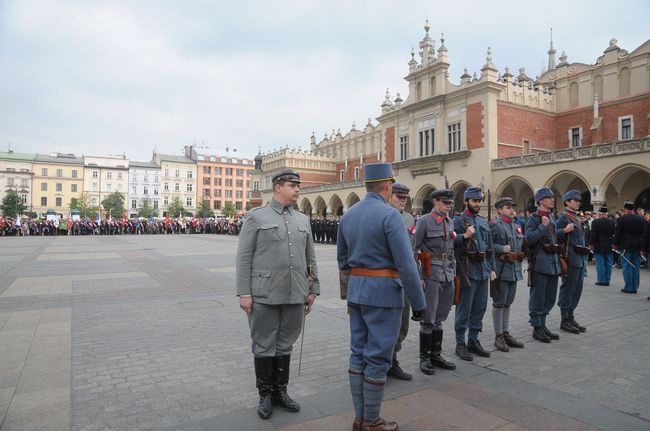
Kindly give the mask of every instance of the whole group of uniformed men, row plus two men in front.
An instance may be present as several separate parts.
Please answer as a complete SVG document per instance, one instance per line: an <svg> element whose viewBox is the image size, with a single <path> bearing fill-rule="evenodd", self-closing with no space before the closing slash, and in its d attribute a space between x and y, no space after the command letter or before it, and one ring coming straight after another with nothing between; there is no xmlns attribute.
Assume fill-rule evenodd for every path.
<svg viewBox="0 0 650 431"><path fill-rule="evenodd" d="M410 320L420 323L419 368L433 375L436 368L456 368L442 352L443 323L453 305L455 354L471 361L475 355L490 357L479 340L488 297L496 350L524 347L510 334L511 306L524 279L532 337L542 343L560 338L547 327L556 302L560 329L586 332L575 313L590 255L596 261L596 285L609 285L618 256L625 279L622 291L636 293L639 288L650 223L634 213L630 202L618 221L608 217L606 207L591 220L579 214L581 193L570 190L561 196L564 210L557 216L554 192L541 188L534 196L537 210L527 218L517 214L512 198L503 196L494 203L496 217L488 221L481 215L485 194L480 188L469 187L464 208L455 213L454 192L439 189L431 194L430 209L416 220L405 211L410 190L395 182L390 164L364 169L367 194L340 223L322 217L310 221L295 209L300 175L288 170L273 178L273 200L252 210L243 224L237 295L248 317L258 414L264 419L273 406L300 409L287 385L293 344L320 293L314 243L337 246L341 298L347 302L350 323L354 431L399 429L380 412L387 377L412 379L397 358Z"/></svg>

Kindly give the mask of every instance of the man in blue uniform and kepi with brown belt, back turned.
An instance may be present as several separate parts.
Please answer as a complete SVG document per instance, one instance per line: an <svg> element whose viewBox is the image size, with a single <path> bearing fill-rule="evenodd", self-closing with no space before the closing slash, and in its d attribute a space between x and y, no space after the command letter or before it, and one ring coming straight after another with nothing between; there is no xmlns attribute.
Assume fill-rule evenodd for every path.
<svg viewBox="0 0 650 431"><path fill-rule="evenodd" d="M422 320L426 307L413 249L402 217L387 205L393 187L389 163L366 165L366 197L341 218L337 260L350 312L350 392L353 429L397 430L395 422L379 416L386 373L390 368L404 306L404 293L413 320Z"/></svg>

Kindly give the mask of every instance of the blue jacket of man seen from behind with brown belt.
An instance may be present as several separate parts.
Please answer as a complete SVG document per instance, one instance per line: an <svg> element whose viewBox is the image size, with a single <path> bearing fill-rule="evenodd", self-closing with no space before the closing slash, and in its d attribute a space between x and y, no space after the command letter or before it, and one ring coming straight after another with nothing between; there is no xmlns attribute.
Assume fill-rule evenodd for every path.
<svg viewBox="0 0 650 431"><path fill-rule="evenodd" d="M352 275L347 300L352 304L400 308L406 292L413 310L426 308L418 268L404 222L384 198L368 192L341 218L337 239L339 269L393 269L399 278Z"/></svg>

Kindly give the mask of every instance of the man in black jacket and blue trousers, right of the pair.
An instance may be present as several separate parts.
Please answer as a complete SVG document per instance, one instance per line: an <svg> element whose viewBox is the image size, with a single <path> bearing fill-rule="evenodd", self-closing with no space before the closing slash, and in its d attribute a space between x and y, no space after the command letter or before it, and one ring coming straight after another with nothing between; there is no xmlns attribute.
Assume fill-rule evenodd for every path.
<svg viewBox="0 0 650 431"><path fill-rule="evenodd" d="M636 293L639 290L641 247L645 220L634 212L634 203L623 204L623 215L616 221L613 247L622 254L623 293Z"/></svg>

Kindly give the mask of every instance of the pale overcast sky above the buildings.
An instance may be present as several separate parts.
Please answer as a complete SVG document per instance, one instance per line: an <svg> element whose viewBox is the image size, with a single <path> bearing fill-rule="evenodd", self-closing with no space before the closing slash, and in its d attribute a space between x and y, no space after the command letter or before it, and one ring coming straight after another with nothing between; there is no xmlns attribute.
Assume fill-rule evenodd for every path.
<svg viewBox="0 0 650 431"><path fill-rule="evenodd" d="M650 38L650 2L0 0L0 150L178 154L197 143L241 157L312 130L362 127L403 79L425 19L450 79L546 64L549 28L570 62L612 37Z"/></svg>

